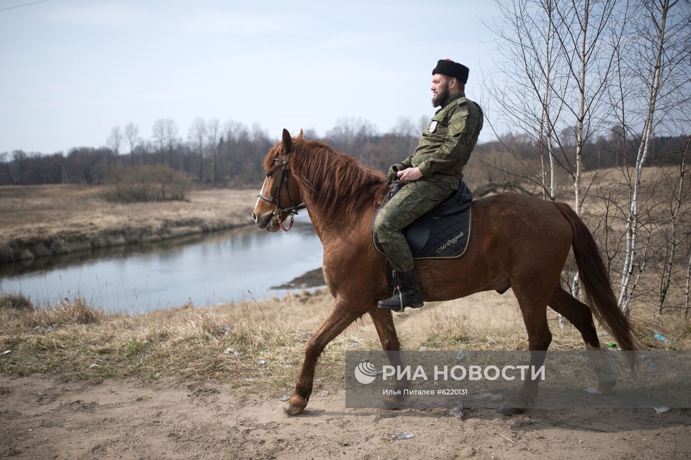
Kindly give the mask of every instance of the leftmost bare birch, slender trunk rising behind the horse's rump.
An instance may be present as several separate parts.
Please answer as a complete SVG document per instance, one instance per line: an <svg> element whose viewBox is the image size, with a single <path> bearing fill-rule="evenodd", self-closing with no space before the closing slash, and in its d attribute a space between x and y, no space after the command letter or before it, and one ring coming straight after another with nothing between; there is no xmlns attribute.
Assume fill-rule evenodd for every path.
<svg viewBox="0 0 691 460"><path fill-rule="evenodd" d="M500 23L489 28L500 38L495 77L485 79L485 89L498 106L498 119L487 117L505 151L525 160L522 168L506 168L501 159L489 166L515 179L538 186L542 197L556 199L556 167L569 171L565 155L562 164L555 151L555 134L562 113L569 75L556 73L562 68L563 54L556 46L555 6L559 0L499 1ZM554 97L559 91L562 97ZM556 104L555 104L556 102ZM509 128L508 135L499 129ZM525 134L519 138L513 133ZM535 162L534 160L537 160ZM533 166L534 165L534 166Z"/></svg>

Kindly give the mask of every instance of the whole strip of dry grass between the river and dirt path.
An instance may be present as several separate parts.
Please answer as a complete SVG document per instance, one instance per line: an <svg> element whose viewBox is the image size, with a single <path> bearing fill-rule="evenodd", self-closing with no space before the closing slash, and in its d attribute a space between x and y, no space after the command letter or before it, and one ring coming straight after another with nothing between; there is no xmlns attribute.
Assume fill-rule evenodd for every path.
<svg viewBox="0 0 691 460"><path fill-rule="evenodd" d="M303 349L332 305L327 291L198 308L184 305L140 316L104 314L82 300L53 309L0 310L0 372L50 374L66 380L136 376L222 381L249 390L278 391L296 380ZM511 294L480 293L430 303L395 317L404 349L526 349L527 334ZM584 349L576 329L556 327L551 349ZM691 323L665 316L634 318L643 348L691 349ZM663 334L670 343L653 338ZM603 343L611 340L605 336ZM371 321L363 318L325 350L316 378L337 382L345 352L380 349ZM260 364L260 361L265 361ZM249 379L249 380L247 380Z"/></svg>

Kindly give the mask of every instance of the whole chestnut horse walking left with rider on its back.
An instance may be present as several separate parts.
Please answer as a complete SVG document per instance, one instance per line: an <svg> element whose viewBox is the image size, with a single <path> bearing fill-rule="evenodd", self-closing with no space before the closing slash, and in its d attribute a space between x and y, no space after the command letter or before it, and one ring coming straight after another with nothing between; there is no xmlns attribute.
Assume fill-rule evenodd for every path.
<svg viewBox="0 0 691 460"><path fill-rule="evenodd" d="M371 234L372 217L388 186L383 173L326 144L304 140L302 131L292 138L284 129L283 140L269 151L264 168L266 179L252 213L257 227L268 231L283 228L287 218L292 220L298 204L304 203L302 207L307 207L324 246L324 279L335 299L331 312L305 347L305 361L287 408L294 415L310 400L314 367L323 349L363 314L372 318L385 351L400 349L392 313L377 308L377 300L390 296L390 292L386 259L375 250ZM528 332L530 364L536 367L544 362L551 343L548 305L578 328L587 349L600 349L593 314L621 349L634 349L630 325L617 307L598 247L569 205L500 193L473 202L472 227L462 258L415 262L426 302L513 288ZM590 307L560 285L571 247ZM425 314L425 310L417 314ZM389 354L390 358L394 355ZM611 390L616 382L612 367L600 353L589 353L589 357L598 387L603 392ZM537 392L537 381L524 381L500 412L523 412L533 405ZM400 396L387 398L391 408L403 403Z"/></svg>

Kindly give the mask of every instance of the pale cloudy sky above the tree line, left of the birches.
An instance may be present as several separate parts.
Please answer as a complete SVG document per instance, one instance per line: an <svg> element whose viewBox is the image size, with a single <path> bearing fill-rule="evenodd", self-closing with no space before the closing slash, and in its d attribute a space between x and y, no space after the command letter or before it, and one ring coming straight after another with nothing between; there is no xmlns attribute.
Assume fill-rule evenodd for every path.
<svg viewBox="0 0 691 460"><path fill-rule="evenodd" d="M102 146L155 119L195 117L319 135L339 117L380 132L431 116L431 70L471 68L480 99L490 1L0 0L0 152ZM334 4L337 3L337 4ZM481 140L489 140L489 129Z"/></svg>

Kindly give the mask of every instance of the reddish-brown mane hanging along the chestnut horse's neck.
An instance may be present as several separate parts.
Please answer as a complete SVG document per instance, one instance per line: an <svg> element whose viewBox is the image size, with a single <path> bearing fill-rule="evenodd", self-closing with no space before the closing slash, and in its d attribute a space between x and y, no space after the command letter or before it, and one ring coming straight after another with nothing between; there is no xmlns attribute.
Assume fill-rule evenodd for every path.
<svg viewBox="0 0 691 460"><path fill-rule="evenodd" d="M293 139L289 169L301 185L303 201L324 218L352 219L386 194L384 173L370 169L335 148Z"/></svg>

